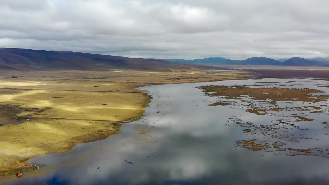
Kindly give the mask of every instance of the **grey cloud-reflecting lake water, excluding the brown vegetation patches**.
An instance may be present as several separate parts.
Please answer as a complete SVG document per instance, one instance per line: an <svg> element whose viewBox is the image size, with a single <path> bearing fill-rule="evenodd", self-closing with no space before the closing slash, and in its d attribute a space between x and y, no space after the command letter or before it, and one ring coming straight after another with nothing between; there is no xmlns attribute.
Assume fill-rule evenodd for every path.
<svg viewBox="0 0 329 185"><path fill-rule="evenodd" d="M265 82L265 85L256 82ZM282 152L252 151L234 146L237 140L255 138L268 141L270 138L263 131L243 133L244 127L235 125L236 119L256 126L271 125L279 119L291 119L286 117L288 112L251 114L245 112L240 100L234 100L237 104L229 107L206 106L221 98L206 96L194 88L206 85L278 87L278 84L287 84L280 87L319 89L328 94L329 88L314 86L328 83L321 80L262 79L142 87L140 89L153 96L143 119L124 123L119 134L79 144L71 152L33 158L30 163L45 166L39 171L25 173L21 178L0 179L0 184L328 184L329 158L288 156ZM284 106L307 104L281 103ZM316 104L328 105L328 101ZM298 128L282 126L287 127L286 134L301 135L288 142L287 147L329 147L329 136L325 135L329 128L321 124L327 121L328 111L312 114L310 118L316 120L293 122Z"/></svg>

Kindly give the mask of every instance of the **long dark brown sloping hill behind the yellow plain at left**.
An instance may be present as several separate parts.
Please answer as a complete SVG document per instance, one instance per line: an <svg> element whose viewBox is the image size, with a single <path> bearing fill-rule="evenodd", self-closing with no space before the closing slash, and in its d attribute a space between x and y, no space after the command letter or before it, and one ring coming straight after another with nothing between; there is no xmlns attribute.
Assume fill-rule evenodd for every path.
<svg viewBox="0 0 329 185"><path fill-rule="evenodd" d="M13 70L108 70L224 69L164 60L117 57L71 51L0 48L0 69Z"/></svg>

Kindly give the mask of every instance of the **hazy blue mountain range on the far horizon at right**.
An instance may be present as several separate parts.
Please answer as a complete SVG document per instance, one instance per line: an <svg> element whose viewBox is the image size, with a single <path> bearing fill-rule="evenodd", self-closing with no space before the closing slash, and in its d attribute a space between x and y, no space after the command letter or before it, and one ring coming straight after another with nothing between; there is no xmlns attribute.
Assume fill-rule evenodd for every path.
<svg viewBox="0 0 329 185"><path fill-rule="evenodd" d="M329 58L303 59L293 57L291 59L274 60L266 57L252 57L246 60L231 60L223 57L210 57L204 59L161 59L170 62L193 64L222 64L222 65L280 65L280 66L329 66Z"/></svg>

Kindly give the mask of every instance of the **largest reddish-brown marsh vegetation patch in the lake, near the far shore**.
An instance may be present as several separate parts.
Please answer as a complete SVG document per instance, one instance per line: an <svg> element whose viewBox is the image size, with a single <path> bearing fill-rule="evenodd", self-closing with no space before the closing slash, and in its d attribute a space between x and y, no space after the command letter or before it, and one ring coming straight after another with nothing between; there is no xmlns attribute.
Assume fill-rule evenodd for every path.
<svg viewBox="0 0 329 185"><path fill-rule="evenodd" d="M257 83L257 82L256 82ZM274 82L267 82L274 83ZM318 106L308 106L308 107L280 107L277 101L285 101L286 103L293 103L295 101L305 101L305 102L321 102L328 100L329 95L313 95L313 93L322 93L320 90L316 89L286 89L286 88L250 88L248 86L202 86L196 87L201 89L207 95L219 96L225 99L240 99L242 102L248 104L243 104L243 106L248 107L247 112L257 115L266 115L268 111L309 111L310 113L326 113ZM250 99L246 99L245 96ZM261 101L265 100L265 101ZM289 102L293 101L293 102ZM269 103L271 106L265 107L254 107L256 102ZM209 106L227 106L232 104L232 101L228 102L217 102L209 104ZM274 106L274 107L273 107ZM326 106L326 105L320 105ZM297 121L311 121L313 119L308 119L305 117L298 117Z"/></svg>

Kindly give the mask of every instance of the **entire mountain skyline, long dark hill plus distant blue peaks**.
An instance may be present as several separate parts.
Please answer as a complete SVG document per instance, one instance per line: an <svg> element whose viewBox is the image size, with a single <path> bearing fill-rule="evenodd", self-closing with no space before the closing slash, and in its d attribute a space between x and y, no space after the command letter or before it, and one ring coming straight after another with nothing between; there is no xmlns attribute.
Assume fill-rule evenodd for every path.
<svg viewBox="0 0 329 185"><path fill-rule="evenodd" d="M317 59L317 60L315 60ZM282 62L281 62L282 61ZM190 63L190 64L189 64ZM138 69L170 71L172 69L226 69L202 64L219 65L282 65L329 66L329 58L274 60L252 57L246 60L230 60L223 57L205 59L141 59L99 55L71 51L45 51L32 49L0 48L0 69L14 70L108 70Z"/></svg>

